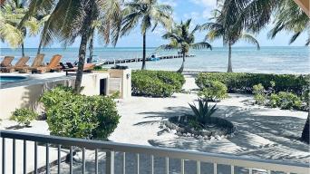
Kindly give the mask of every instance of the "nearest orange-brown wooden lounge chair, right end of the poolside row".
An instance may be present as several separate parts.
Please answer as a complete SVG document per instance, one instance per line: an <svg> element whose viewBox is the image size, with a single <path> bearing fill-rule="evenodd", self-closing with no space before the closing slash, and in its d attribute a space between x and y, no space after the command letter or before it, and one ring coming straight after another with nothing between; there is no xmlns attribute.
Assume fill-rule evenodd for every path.
<svg viewBox="0 0 310 174"><path fill-rule="evenodd" d="M38 67L30 68L31 73L45 73L45 72L60 71L62 67L59 65L59 63L62 57L63 56L60 54L53 55L50 63L48 63L46 66L38 66Z"/></svg>

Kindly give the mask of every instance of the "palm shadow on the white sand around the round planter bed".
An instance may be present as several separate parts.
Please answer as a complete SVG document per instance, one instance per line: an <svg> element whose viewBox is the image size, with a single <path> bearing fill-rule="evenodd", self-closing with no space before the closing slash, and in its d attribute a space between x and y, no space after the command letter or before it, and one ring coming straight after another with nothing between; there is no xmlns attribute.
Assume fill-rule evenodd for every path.
<svg viewBox="0 0 310 174"><path fill-rule="evenodd" d="M237 128L236 135L229 139L202 140L193 137L178 136L169 140L150 139L152 146L199 150L216 153L234 153L236 155L255 156L273 160L303 160L310 158L309 145L299 140L305 125L305 119L292 116L266 115L267 108L244 108L238 106L218 106L213 115L227 119ZM168 107L165 111L140 112L144 118L154 121L142 121L144 124L167 121L170 117L191 114L187 107ZM162 131L162 130L161 130ZM307 161L307 160L306 160Z"/></svg>

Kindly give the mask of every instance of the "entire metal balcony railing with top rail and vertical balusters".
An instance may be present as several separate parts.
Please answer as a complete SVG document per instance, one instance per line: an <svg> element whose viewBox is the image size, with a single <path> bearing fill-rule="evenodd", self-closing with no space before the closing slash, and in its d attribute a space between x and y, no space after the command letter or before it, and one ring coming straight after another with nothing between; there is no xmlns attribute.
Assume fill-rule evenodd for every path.
<svg viewBox="0 0 310 174"><path fill-rule="evenodd" d="M140 154L146 154L150 156L150 173L154 173L154 157L163 157L165 158L165 173L170 173L170 159L180 160L180 173L185 173L185 162L186 160L194 160L196 161L196 173L200 174L201 172L201 163L211 163L213 164L213 173L218 174L218 165L228 165L230 166L230 173L235 173L235 167L247 168L248 173L252 174L253 169L264 169L266 173L271 173L272 171L281 171L288 173L297 173L297 174L308 174L309 173L309 165L303 163L291 163L284 162L280 160L260 160L260 159L249 159L244 157L237 157L233 155L223 155L223 154L215 154L215 153L206 153L206 152L195 152L189 150L175 150L175 149L167 149L167 148L155 148L149 146L140 146L140 145L132 145L132 144L123 144L109 141L100 141L100 140L81 140L81 139L73 139L73 138L64 138L64 137L56 137L56 136L46 136L39 134L31 134L24 132L16 132L16 131L0 131L0 137L3 139L2 146L2 173L5 174L5 141L6 139L13 140L13 170L15 171L15 149L16 144L15 140L24 140L24 173L29 171L25 171L26 169L26 148L27 141L34 142L34 173L37 173L37 146L38 143L44 143L46 148L46 173L50 172L49 165L49 147L53 144L56 145L58 150L58 173L61 172L61 160L60 160L60 150L62 147L66 147L70 150L70 173L73 172L73 147L82 148L82 173L85 173L85 150L94 150L95 151L95 173L98 173L98 150L104 150L106 152L106 162L105 162L105 173L113 174L114 173L114 156L115 152L122 152L123 160L122 160L122 173L126 171L126 153L134 153L136 154L137 163L135 164L135 168L138 171L140 170ZM14 173L14 172L13 172Z"/></svg>

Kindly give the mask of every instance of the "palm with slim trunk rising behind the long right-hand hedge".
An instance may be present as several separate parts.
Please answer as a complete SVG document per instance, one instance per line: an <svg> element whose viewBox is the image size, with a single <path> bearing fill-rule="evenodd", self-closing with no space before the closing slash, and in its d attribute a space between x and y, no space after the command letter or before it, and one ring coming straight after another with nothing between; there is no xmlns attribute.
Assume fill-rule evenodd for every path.
<svg viewBox="0 0 310 174"><path fill-rule="evenodd" d="M224 45L228 45L228 73L232 73L231 52L232 45L239 40L253 43L257 46L257 50L260 49L259 43L256 38L244 32L242 26L237 26L237 18L233 18L230 15L222 14L223 11L214 11L214 17L211 18L213 22L202 24L201 30L208 30L206 40L214 41L215 39L222 38Z"/></svg>

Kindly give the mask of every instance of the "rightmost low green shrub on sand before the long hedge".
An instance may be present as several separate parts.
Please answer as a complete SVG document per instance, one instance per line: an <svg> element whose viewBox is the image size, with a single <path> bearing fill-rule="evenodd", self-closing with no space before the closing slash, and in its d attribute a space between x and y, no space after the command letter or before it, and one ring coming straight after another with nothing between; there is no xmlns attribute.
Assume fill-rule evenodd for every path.
<svg viewBox="0 0 310 174"><path fill-rule="evenodd" d="M292 92L279 92L278 107L284 110L300 109L302 102L297 95Z"/></svg>

